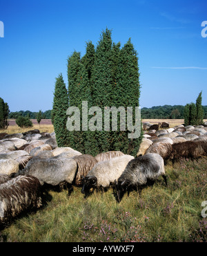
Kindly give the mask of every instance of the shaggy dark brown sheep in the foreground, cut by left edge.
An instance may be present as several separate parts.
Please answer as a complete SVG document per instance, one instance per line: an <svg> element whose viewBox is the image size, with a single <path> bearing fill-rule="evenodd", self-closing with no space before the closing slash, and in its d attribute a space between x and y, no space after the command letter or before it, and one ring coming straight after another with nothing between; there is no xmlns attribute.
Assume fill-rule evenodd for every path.
<svg viewBox="0 0 207 256"><path fill-rule="evenodd" d="M21 212L41 207L41 186L34 176L17 176L0 185L0 225Z"/></svg>

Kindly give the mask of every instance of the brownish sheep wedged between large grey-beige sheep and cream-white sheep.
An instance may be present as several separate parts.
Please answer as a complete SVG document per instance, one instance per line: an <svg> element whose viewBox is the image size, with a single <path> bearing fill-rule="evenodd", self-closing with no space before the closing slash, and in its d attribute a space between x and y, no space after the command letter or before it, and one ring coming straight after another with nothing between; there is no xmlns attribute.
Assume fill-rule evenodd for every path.
<svg viewBox="0 0 207 256"><path fill-rule="evenodd" d="M89 154L83 154L80 156L73 156L77 162L77 173L75 174L75 185L80 186L82 184L81 176L86 176L88 172L98 163L94 156Z"/></svg>

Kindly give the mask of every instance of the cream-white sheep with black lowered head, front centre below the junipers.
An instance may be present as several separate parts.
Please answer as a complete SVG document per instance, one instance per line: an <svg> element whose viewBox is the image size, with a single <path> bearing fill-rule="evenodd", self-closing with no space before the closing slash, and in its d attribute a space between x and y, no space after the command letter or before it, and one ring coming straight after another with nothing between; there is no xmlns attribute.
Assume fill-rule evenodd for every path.
<svg viewBox="0 0 207 256"><path fill-rule="evenodd" d="M132 159L134 159L134 156L123 155L97 163L92 170L83 177L81 192L88 196L90 189L106 190L111 183L119 179L126 165Z"/></svg>

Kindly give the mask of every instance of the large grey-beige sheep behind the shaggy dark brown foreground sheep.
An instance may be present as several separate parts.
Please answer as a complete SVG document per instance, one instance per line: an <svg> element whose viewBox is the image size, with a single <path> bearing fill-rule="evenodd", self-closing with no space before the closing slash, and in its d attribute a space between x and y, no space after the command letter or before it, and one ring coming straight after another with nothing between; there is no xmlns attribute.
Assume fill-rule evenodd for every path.
<svg viewBox="0 0 207 256"><path fill-rule="evenodd" d="M19 175L32 175L39 179L41 185L44 183L57 186L66 182L68 195L72 192L72 182L77 172L77 161L72 158L32 158L24 170L19 170Z"/></svg>

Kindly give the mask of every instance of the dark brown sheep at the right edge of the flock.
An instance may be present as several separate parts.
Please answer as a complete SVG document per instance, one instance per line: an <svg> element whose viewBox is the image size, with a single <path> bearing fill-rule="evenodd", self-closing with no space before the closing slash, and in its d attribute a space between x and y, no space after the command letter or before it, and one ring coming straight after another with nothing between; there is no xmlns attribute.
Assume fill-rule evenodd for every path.
<svg viewBox="0 0 207 256"><path fill-rule="evenodd" d="M172 154L170 159L178 160L179 158L199 158L207 155L207 142L202 140L187 140L183 143L172 145Z"/></svg>

